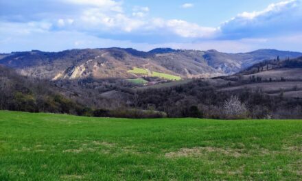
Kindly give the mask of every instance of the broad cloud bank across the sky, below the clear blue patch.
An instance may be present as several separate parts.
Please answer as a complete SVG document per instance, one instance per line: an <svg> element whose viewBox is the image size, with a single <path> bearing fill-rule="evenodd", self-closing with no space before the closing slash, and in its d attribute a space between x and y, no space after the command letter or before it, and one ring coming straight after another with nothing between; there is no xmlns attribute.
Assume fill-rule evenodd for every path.
<svg viewBox="0 0 302 181"><path fill-rule="evenodd" d="M182 8L193 6L191 3L181 5ZM60 38L62 49L101 47L106 45L102 42L106 42L106 47L148 49L170 45L248 51L254 48L279 48L276 43L283 40L288 42L288 48L295 45L293 50L302 51L299 49L301 44L294 39L302 36L299 0L270 4L262 11L242 12L218 27L202 26L183 19L153 17L150 16L152 10L146 6L135 5L129 12L125 9L124 1L114 0L45 0L43 3L38 0L3 0L0 7L2 52L32 47L52 50L54 45L50 44L53 38ZM47 45L40 45L40 42L47 42L41 40L43 38L49 41L48 48Z"/></svg>

